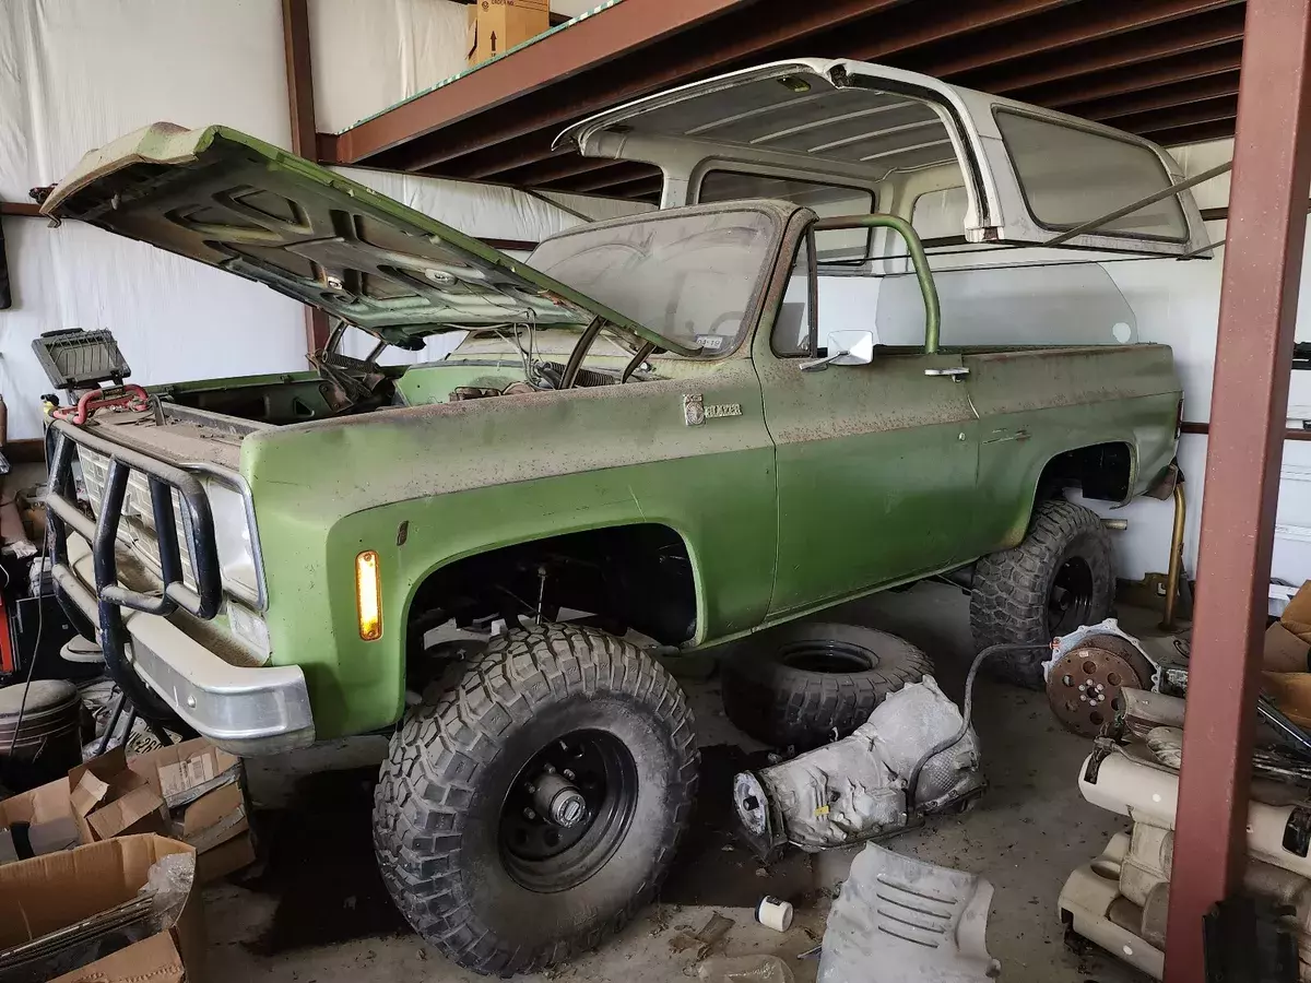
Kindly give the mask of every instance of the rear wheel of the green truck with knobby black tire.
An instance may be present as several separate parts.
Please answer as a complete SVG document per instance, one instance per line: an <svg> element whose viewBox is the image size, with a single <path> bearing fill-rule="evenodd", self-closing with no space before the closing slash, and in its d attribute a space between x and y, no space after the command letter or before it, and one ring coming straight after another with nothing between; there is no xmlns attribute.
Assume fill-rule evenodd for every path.
<svg viewBox="0 0 1311 983"><path fill-rule="evenodd" d="M1116 575L1110 536L1091 509L1063 498L1033 510L1013 549L979 560L970 592L974 646L1046 644L1110 615ZM1000 678L1042 688L1042 657L1016 651L991 662Z"/></svg>

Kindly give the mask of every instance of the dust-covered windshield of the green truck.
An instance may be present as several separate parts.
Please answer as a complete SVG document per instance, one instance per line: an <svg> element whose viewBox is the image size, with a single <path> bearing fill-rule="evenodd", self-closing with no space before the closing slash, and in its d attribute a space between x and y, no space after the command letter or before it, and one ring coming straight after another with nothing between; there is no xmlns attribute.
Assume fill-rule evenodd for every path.
<svg viewBox="0 0 1311 983"><path fill-rule="evenodd" d="M656 214L556 236L528 263L713 358L741 343L773 240L760 211Z"/></svg>

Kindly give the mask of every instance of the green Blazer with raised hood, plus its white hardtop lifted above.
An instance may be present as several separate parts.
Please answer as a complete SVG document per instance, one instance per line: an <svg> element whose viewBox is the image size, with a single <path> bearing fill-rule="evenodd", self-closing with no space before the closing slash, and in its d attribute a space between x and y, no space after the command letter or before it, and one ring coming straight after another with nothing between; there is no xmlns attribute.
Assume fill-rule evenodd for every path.
<svg viewBox="0 0 1311 983"><path fill-rule="evenodd" d="M929 240L948 258L1206 245L1159 147L855 62L684 87L561 145L654 164L658 207L520 261L166 123L43 206L333 320L311 371L51 422L56 590L166 726L243 755L391 733L384 879L501 975L594 946L658 887L697 782L679 653L935 575L970 586L981 647L1106 616L1108 535L1063 492L1169 481L1171 350L1118 321L1061 343L1061 317L978 341L968 308L944 317L926 215L956 210ZM450 332L440 362L380 358Z"/></svg>

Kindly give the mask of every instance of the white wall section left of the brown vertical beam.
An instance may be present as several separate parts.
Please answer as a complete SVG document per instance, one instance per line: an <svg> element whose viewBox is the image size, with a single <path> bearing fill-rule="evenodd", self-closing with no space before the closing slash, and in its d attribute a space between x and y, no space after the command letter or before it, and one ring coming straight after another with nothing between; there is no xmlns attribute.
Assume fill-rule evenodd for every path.
<svg viewBox="0 0 1311 983"><path fill-rule="evenodd" d="M278 0L7 0L0 4L0 197L58 180L83 152L169 119L227 122L287 145ZM51 389L31 339L109 328L140 383L304 367L299 304L68 223L4 220L14 305L0 311L10 438L41 434Z"/></svg>

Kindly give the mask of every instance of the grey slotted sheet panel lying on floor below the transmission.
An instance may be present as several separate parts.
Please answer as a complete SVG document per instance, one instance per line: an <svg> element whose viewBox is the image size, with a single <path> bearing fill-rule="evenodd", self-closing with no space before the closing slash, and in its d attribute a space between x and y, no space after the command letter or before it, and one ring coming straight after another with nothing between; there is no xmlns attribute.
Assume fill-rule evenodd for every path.
<svg viewBox="0 0 1311 983"><path fill-rule="evenodd" d="M832 903L819 983L990 983L992 885L868 844Z"/></svg>

